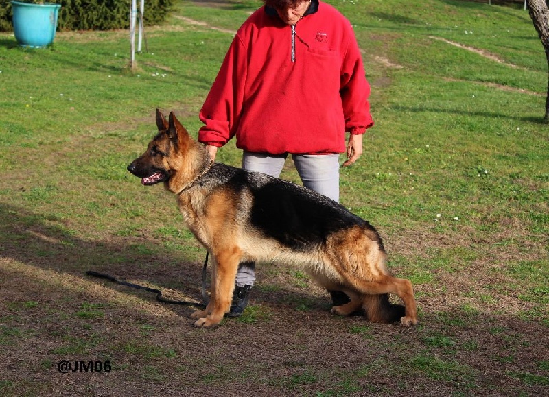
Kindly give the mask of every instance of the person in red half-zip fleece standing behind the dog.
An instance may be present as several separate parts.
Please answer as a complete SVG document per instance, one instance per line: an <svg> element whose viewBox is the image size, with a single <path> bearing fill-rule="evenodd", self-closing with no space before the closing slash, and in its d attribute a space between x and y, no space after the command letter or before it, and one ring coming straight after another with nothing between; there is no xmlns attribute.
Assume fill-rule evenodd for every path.
<svg viewBox="0 0 549 397"><path fill-rule="evenodd" d="M339 200L339 154L347 167L373 125L351 23L318 0L264 0L238 29L200 110L198 132L212 160L236 136L242 167L278 177L288 154L303 185ZM345 133L349 140L345 144ZM241 263L229 317L242 314L255 281ZM347 296L330 291L334 306Z"/></svg>

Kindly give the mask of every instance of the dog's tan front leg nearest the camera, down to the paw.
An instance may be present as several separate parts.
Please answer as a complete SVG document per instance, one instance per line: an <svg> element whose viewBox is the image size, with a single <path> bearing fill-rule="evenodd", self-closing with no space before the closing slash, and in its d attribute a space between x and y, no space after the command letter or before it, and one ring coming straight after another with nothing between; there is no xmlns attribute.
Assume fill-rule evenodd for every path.
<svg viewBox="0 0 549 397"><path fill-rule="evenodd" d="M215 255L215 277L212 279L211 300L205 310L207 315L194 323L198 328L211 328L218 325L231 308L239 259L240 249L236 247Z"/></svg>

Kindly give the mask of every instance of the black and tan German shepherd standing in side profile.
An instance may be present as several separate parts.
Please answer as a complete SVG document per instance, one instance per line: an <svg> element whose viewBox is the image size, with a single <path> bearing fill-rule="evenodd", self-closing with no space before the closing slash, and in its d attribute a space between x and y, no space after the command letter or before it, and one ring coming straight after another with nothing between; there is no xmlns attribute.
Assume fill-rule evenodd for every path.
<svg viewBox="0 0 549 397"><path fill-rule="evenodd" d="M166 121L157 109L156 125L159 133L128 171L176 195L186 226L213 258L211 300L192 313L195 326L221 322L238 264L247 261L302 265L321 286L349 296L331 309L337 315L362 308L371 322L418 324L412 284L388 272L382 239L367 221L292 182L213 163L173 112ZM390 304L388 293L406 308Z"/></svg>

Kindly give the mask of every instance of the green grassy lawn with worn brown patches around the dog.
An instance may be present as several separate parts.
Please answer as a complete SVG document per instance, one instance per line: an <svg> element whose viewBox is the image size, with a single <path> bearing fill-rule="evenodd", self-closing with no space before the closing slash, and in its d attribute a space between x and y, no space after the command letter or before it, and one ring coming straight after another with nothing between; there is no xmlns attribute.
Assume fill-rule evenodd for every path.
<svg viewBox="0 0 549 397"><path fill-rule="evenodd" d="M341 202L414 284L420 326L332 317L327 293L280 263L258 266L244 316L210 331L189 308L85 275L199 299L205 251L174 198L126 165L156 108L196 136L231 32L261 3L184 0L146 28L133 72L126 31L58 32L48 49L0 34L1 395L546 393L548 65L528 12L329 3L355 29L375 119ZM233 142L218 161L240 165ZM290 161L282 177L299 181ZM60 374L61 360L112 371Z"/></svg>

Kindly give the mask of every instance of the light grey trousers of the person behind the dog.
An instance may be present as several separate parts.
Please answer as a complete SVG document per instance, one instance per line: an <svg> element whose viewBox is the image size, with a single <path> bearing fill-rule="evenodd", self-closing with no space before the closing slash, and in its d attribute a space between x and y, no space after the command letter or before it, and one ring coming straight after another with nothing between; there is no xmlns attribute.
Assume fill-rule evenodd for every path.
<svg viewBox="0 0 549 397"><path fill-rule="evenodd" d="M244 152L242 168L278 178L287 156ZM339 154L292 154L292 160L304 187L339 202ZM244 287L254 282L255 262L240 263L236 284Z"/></svg>

